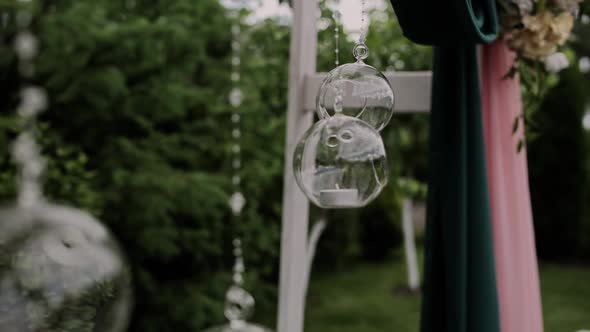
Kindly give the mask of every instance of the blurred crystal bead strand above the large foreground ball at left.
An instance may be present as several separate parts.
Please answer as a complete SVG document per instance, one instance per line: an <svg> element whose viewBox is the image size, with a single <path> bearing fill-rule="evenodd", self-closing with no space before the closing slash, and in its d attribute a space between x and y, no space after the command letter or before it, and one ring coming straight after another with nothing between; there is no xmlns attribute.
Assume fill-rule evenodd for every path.
<svg viewBox="0 0 590 332"><path fill-rule="evenodd" d="M19 32L15 38L14 49L18 59L19 73L27 80L35 74L34 63L39 42L30 30L33 3L31 0L19 0L19 2L24 4L24 7L16 15ZM36 118L47 108L48 101L47 93L42 87L28 84L21 88L20 98L17 113L24 123L24 129L14 143L12 156L20 167L18 204L30 207L42 200L40 178L44 160L35 141L35 133Z"/></svg>

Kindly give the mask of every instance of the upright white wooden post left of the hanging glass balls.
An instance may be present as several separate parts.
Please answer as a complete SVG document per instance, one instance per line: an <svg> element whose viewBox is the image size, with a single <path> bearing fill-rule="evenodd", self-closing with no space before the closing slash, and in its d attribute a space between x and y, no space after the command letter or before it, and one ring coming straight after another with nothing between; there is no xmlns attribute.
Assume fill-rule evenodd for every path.
<svg viewBox="0 0 590 332"><path fill-rule="evenodd" d="M316 72L318 12L318 2L315 0L293 1L277 327L279 332L303 331L309 202L295 182L292 158L298 140L313 122L313 113L304 111L304 95L305 77Z"/></svg>

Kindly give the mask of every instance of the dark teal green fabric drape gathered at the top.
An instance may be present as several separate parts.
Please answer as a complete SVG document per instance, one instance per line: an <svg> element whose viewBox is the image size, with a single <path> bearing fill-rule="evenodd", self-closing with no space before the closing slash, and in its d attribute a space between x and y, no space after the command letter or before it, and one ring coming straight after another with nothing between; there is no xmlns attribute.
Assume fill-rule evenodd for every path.
<svg viewBox="0 0 590 332"><path fill-rule="evenodd" d="M392 0L404 34L435 46L422 332L498 332L477 43L495 0Z"/></svg>

